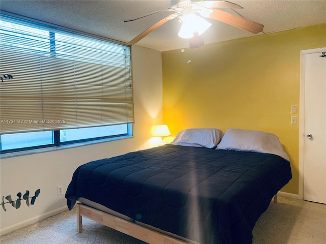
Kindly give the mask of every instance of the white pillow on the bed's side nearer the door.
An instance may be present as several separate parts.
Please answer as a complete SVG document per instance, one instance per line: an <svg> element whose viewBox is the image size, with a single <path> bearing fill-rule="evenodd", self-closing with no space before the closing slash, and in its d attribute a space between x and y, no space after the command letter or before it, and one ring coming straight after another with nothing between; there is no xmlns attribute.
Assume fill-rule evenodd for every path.
<svg viewBox="0 0 326 244"><path fill-rule="evenodd" d="M290 161L279 138L263 131L228 129L216 149L275 154Z"/></svg>

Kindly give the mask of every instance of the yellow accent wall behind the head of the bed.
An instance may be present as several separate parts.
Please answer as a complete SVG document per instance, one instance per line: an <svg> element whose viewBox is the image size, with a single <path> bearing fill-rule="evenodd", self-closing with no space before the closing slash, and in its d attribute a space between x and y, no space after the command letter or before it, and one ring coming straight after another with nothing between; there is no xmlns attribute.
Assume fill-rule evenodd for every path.
<svg viewBox="0 0 326 244"><path fill-rule="evenodd" d="M298 194L299 125L290 124L290 111L299 111L300 51L319 47L326 24L163 52L163 121L172 135L186 128L278 135L293 175L282 191Z"/></svg>

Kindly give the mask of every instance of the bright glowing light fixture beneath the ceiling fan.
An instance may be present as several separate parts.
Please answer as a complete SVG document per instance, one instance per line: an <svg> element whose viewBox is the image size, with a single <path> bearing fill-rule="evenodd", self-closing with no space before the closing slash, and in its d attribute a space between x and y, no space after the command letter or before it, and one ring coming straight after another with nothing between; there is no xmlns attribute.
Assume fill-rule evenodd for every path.
<svg viewBox="0 0 326 244"><path fill-rule="evenodd" d="M186 14L180 17L180 19L182 25L178 36L183 39L193 38L194 33L198 33L198 36L200 36L212 25L195 13Z"/></svg>

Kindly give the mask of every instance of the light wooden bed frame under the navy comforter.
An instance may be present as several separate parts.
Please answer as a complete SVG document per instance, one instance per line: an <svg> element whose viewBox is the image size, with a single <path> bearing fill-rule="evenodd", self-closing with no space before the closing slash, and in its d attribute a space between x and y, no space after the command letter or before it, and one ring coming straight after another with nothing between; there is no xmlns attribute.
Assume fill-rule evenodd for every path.
<svg viewBox="0 0 326 244"><path fill-rule="evenodd" d="M274 202L277 203L277 194L274 196ZM199 244L196 241L184 241L163 233L159 233L155 230L146 228L144 226L121 219L111 214L107 214L106 212L95 209L93 207L84 205L83 203L77 204L78 233L83 232L83 216L150 244Z"/></svg>

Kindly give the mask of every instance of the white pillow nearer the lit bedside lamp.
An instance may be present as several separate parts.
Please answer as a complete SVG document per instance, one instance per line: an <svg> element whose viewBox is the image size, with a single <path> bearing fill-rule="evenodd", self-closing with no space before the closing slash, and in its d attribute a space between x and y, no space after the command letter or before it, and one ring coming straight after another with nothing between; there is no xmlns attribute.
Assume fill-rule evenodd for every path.
<svg viewBox="0 0 326 244"><path fill-rule="evenodd" d="M170 144L214 148L223 137L218 129L186 129L180 131Z"/></svg>

